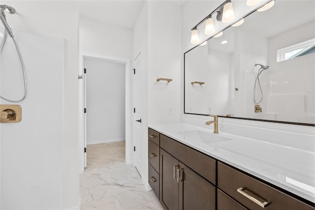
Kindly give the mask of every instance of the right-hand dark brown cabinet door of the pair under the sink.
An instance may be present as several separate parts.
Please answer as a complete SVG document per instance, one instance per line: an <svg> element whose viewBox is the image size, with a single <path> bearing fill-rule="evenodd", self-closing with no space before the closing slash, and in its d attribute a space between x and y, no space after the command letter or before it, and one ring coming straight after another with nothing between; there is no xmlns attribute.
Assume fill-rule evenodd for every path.
<svg viewBox="0 0 315 210"><path fill-rule="evenodd" d="M179 165L179 209L216 209L216 187L181 162Z"/></svg>

